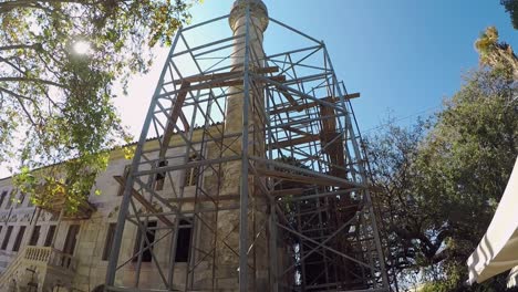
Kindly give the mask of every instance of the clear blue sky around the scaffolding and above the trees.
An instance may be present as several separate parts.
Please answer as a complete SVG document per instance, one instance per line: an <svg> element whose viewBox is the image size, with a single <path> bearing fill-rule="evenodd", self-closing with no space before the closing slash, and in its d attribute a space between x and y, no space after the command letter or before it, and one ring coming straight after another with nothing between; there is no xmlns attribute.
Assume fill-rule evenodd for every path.
<svg viewBox="0 0 518 292"><path fill-rule="evenodd" d="M325 42L339 79L349 92L362 94L353 106L366 134L388 116L408 125L419 114L439 111L463 75L478 65L474 42L486 27L496 25L500 39L518 48L518 31L498 0L263 1L270 17ZM232 2L205 0L191 9L193 23L228 13ZM224 30L228 28L215 27L207 33L227 35ZM267 30L266 41L273 43L267 53L273 53L283 38ZM166 52L156 50L149 74L136 76L128 96L116 98L136 136Z"/></svg>

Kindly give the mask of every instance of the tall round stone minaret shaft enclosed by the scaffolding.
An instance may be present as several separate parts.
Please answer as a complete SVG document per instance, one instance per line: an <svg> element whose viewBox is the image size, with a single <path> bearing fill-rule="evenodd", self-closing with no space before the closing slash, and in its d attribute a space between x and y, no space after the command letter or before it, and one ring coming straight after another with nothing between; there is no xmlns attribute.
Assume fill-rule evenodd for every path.
<svg viewBox="0 0 518 292"><path fill-rule="evenodd" d="M249 70L257 72L257 69L263 66L265 52L262 49L263 32L268 27L268 11L260 0L237 0L234 3L229 24L232 29L234 35L245 35L247 31L247 11L250 7L250 23L249 23ZM242 72L245 70L245 52L246 43L245 38L235 40L234 54L232 54L232 72ZM262 90L259 87L261 83L256 83L255 86L259 90L252 90L250 84L249 91L249 108L248 108L248 123L249 123L249 138L248 138L248 154L251 156L265 156L265 131L263 116L265 96ZM244 93L242 86L235 86L228 90L227 108L225 116L225 134L241 134L242 116L244 116ZM227 138L225 144L231 143L230 149L226 152L227 156L241 153L242 140L235 140L236 138ZM241 177L241 161L227 163L222 166L222 185L220 187L220 195L239 195L239 184ZM266 205L258 196L258 189L255 181L249 177L249 206L251 210L255 208L255 215L248 217L248 244L252 241L255 250L250 252L249 264L256 265L255 274L249 271L248 283L250 289L252 284L258 290L266 291L266 283L268 282L268 261L267 261L267 241L265 232L260 239L255 239L255 234L260 231L260 228L266 223ZM235 205L236 201L225 201L220 204L221 207ZM227 210L218 212L217 232L218 238L231 247L239 253L239 210ZM234 230L232 230L234 229ZM257 254L253 259L253 254ZM238 291L238 268L239 257L226 247L221 241L217 243L216 257L216 280L218 290ZM251 270L251 269L249 269Z"/></svg>

